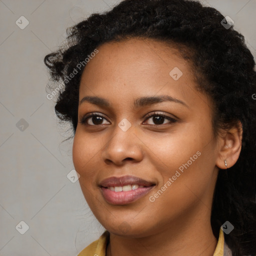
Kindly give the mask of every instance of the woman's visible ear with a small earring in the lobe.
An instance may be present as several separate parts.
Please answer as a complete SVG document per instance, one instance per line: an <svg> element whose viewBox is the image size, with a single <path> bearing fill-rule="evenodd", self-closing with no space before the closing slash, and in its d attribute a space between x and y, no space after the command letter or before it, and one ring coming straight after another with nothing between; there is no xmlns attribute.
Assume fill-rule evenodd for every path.
<svg viewBox="0 0 256 256"><path fill-rule="evenodd" d="M233 166L240 154L242 144L242 124L237 122L236 126L231 127L228 130L220 132L218 138L218 156L216 158L216 165L220 169L226 169Z"/></svg>

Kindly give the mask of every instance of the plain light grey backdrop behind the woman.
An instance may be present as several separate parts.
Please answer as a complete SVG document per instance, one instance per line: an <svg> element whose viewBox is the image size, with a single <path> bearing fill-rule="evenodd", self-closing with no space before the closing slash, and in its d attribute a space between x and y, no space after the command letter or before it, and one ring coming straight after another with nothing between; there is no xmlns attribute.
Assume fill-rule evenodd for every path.
<svg viewBox="0 0 256 256"><path fill-rule="evenodd" d="M2 256L77 255L104 230L89 210L78 181L72 183L66 176L73 169L72 140L61 141L71 133L65 132L67 125L57 124L55 98L46 98L43 57L63 41L66 27L117 2L0 0ZM202 2L234 20L255 56L256 0ZM29 21L24 29L15 23L20 16ZM21 220L29 226L24 234L15 228ZM25 228L22 223L18 227Z"/></svg>

